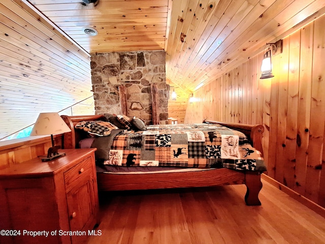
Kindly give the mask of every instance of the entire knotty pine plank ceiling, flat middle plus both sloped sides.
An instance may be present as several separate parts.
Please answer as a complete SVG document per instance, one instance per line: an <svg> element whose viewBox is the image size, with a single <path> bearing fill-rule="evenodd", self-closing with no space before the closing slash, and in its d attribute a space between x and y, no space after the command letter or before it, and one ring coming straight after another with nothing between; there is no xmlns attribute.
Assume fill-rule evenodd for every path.
<svg viewBox="0 0 325 244"><path fill-rule="evenodd" d="M91 97L89 53L165 49L167 79L191 94L324 7L323 0L1 1L0 139L41 111ZM85 35L85 26L99 34Z"/></svg>

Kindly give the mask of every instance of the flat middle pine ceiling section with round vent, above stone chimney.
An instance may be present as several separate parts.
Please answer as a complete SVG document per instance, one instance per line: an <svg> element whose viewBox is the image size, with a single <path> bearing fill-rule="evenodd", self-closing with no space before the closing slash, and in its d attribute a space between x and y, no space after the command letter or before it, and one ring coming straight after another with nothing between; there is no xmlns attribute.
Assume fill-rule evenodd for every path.
<svg viewBox="0 0 325 244"><path fill-rule="evenodd" d="M29 0L89 53L163 50L168 0ZM87 36L93 27L97 36Z"/></svg>

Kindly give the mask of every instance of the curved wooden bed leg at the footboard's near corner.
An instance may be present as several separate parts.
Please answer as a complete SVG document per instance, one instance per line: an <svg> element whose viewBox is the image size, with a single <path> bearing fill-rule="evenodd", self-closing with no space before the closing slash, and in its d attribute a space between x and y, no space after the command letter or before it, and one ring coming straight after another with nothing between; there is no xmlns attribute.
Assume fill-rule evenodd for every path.
<svg viewBox="0 0 325 244"><path fill-rule="evenodd" d="M261 205L258 199L258 193L261 191L263 185L261 182L260 172L246 172L245 173L245 185L247 192L245 195L245 202L248 206Z"/></svg>

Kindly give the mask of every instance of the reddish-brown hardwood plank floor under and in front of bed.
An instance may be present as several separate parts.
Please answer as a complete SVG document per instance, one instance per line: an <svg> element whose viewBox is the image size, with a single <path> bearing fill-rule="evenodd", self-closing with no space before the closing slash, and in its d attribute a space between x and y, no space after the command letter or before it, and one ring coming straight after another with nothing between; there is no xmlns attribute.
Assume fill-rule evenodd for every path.
<svg viewBox="0 0 325 244"><path fill-rule="evenodd" d="M102 193L102 235L88 243L325 243L325 219L263 180L262 206L244 185Z"/></svg>

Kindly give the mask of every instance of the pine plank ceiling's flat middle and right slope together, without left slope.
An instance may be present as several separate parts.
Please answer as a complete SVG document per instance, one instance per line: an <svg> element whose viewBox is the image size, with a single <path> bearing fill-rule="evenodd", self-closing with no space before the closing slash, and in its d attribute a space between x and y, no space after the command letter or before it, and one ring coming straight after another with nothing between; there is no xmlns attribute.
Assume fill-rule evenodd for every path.
<svg viewBox="0 0 325 244"><path fill-rule="evenodd" d="M187 93L263 50L323 0L30 0L89 53L161 50L167 78ZM82 27L97 29L85 36ZM167 35L166 35L167 33Z"/></svg>

